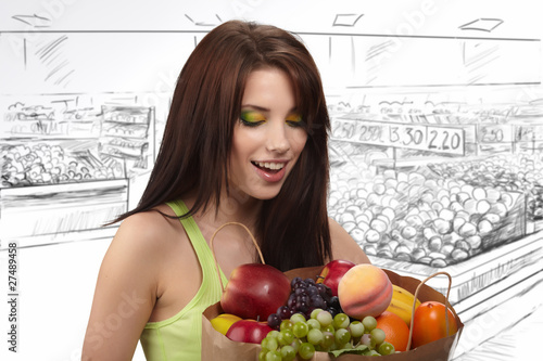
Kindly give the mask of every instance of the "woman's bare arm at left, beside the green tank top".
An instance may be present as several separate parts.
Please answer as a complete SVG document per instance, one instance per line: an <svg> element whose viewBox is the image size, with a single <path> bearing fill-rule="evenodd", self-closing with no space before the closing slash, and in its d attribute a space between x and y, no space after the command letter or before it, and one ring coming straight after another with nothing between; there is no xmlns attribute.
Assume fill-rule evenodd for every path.
<svg viewBox="0 0 543 361"><path fill-rule="evenodd" d="M81 360L131 360L156 299L161 262L153 217L130 216L113 238L98 275Z"/></svg>

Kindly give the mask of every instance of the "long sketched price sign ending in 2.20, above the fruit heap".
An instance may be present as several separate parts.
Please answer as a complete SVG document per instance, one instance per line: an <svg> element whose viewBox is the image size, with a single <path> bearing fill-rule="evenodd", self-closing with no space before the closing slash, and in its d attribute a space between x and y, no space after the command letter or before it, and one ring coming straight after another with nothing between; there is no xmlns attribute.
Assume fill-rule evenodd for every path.
<svg viewBox="0 0 543 361"><path fill-rule="evenodd" d="M462 128L334 119L332 138L354 143L464 155Z"/></svg>

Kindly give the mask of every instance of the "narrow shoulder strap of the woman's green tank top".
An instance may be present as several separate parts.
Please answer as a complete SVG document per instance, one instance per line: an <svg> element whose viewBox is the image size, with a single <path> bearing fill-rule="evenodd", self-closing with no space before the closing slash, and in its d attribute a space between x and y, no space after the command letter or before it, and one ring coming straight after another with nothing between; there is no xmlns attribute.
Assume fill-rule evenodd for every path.
<svg viewBox="0 0 543 361"><path fill-rule="evenodd" d="M185 202L181 199L168 202L167 205L174 210L177 217L181 217L189 211L189 208L185 205ZM210 245L205 241L200 228L192 217L180 218L179 219L187 235L197 253L198 260L200 262L200 267L202 268L202 285L207 282L212 282L212 280L216 280L217 269L215 267L215 260L213 258L213 253L210 248ZM218 267L220 272L220 278L223 279L223 284L226 285L228 279L223 273L220 266ZM218 281L218 280L217 280Z"/></svg>

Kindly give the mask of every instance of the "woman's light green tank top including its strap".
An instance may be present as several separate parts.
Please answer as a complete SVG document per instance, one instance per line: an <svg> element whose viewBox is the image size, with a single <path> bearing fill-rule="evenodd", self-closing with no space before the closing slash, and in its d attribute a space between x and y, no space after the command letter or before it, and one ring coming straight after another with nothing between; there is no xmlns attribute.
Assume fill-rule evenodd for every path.
<svg viewBox="0 0 543 361"><path fill-rule="evenodd" d="M187 214L188 208L182 201L167 203L177 216ZM202 312L220 300L223 293L217 279L217 270L207 242L192 217L181 219L181 224L192 243L200 267L202 268L202 285L194 298L176 315L159 321L148 322L141 333L140 341L148 361L201 359ZM223 284L228 279L220 271Z"/></svg>

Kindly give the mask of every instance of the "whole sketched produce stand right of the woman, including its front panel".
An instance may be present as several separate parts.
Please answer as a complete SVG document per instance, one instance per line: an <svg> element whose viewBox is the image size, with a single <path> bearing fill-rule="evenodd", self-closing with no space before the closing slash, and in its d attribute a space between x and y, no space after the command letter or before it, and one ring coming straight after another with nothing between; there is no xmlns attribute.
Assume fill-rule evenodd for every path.
<svg viewBox="0 0 543 361"><path fill-rule="evenodd" d="M374 265L417 279L445 268L468 330L492 311L498 333L532 312L520 298L543 281L543 108L480 107L333 108L329 208Z"/></svg>

